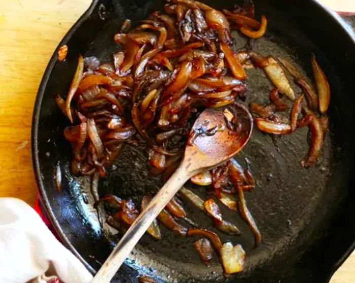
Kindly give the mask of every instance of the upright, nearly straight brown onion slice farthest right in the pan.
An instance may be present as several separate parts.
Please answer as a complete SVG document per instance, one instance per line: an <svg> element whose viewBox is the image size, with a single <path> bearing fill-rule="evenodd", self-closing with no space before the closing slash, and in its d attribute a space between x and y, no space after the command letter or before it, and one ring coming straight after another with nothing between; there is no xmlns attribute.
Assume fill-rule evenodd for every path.
<svg viewBox="0 0 355 283"><path fill-rule="evenodd" d="M311 57L311 63L313 68L313 75L315 84L318 90L319 98L319 111L323 114L326 113L330 102L330 87L326 75L322 68L318 65L315 56Z"/></svg>

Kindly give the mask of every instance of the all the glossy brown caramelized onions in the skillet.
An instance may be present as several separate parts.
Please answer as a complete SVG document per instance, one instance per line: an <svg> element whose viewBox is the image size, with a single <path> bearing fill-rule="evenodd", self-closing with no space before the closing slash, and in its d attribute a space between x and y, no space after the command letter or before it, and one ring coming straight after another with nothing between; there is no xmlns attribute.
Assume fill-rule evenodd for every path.
<svg viewBox="0 0 355 283"><path fill-rule="evenodd" d="M64 129L64 136L73 148L72 172L92 175L96 207L104 202L110 211L107 223L121 232L134 222L139 210L144 209L153 197L144 196L140 209L130 199L114 195L99 198L98 180L105 176L122 146L144 141L151 174L162 174L166 181L182 160L191 126L199 113L206 108L219 108L244 100L246 69L262 68L275 86L270 90L268 105L255 102L249 105L261 131L281 135L309 127L312 142L308 155L301 161L303 167L315 163L328 128L325 113L330 88L314 56L311 64L317 92L286 59L262 56L251 48L233 51L231 29L239 30L253 40L262 37L266 31L267 19L265 16L260 21L255 18L251 1L222 12L193 0L170 0L164 8L165 12L154 12L134 27L129 20L124 22L114 37L122 51L113 54L112 62L102 63L96 57L83 58L80 55L66 99L60 95L55 97L60 110L73 123ZM67 47L60 50L59 60L64 60L66 51ZM296 97L288 75L303 94ZM287 99L293 101L290 118L280 116L290 110ZM206 134L214 134L216 130L209 129ZM244 198L244 191L255 188L248 166L243 168L231 159L190 181L208 186L208 192L221 204L238 211L251 227L255 245L261 243L261 234ZM188 218L181 198L210 216L220 232L240 234L234 224L224 220L214 198L202 200L185 187L147 232L161 239L158 224L161 223L182 236L197 236L199 239L194 246L206 264L215 249L226 274L240 272L245 257L242 247L230 242L222 244L216 233L196 227Z"/></svg>

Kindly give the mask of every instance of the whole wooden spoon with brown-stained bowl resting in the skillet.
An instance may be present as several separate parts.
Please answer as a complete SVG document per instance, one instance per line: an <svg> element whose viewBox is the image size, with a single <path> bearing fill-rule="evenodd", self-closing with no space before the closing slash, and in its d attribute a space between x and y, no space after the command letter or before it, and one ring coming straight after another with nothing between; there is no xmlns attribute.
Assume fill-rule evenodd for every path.
<svg viewBox="0 0 355 283"><path fill-rule="evenodd" d="M190 136L201 132L202 128L208 130L216 126L219 130L215 134L200 134L195 135L194 140L190 139L179 168L123 235L91 283L110 282L141 236L186 181L227 161L244 147L253 130L253 118L238 103L225 108L206 109L197 118Z"/></svg>

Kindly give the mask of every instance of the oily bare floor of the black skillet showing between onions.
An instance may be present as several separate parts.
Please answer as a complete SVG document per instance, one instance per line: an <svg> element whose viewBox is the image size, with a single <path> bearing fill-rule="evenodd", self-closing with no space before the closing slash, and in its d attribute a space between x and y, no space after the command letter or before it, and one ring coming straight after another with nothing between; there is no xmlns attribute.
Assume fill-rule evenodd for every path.
<svg viewBox="0 0 355 283"><path fill-rule="evenodd" d="M237 33L233 33L233 36L237 38L235 49L242 47L243 39ZM263 55L272 54L288 58L296 62L297 66L306 69L305 75L309 74L309 54L305 54L301 49L295 49L295 46L291 49L283 42L287 41L267 34L255 42L253 50ZM307 67L304 68L304 66ZM245 103L250 100L266 103L273 85L261 69L248 69L247 74L249 90ZM292 86L296 93L301 91L296 85ZM225 209L221 205L226 220L236 224L242 232L241 236L230 237L214 229L210 219L203 213L194 209L190 204L184 203L189 218L200 227L218 233L223 242L231 240L233 243L243 245L247 253L246 265L245 271L238 276L247 276L248 272L263 267L274 256L286 252L291 253L292 249L296 249L293 243L305 230L316 229L307 227L307 225L325 195L333 155L331 134L326 135L323 153L316 166L304 169L300 165L300 160L307 154L307 151L306 128L299 129L291 135L283 135L276 145L269 135L255 129L249 143L236 156L240 163L244 162L244 158L251 161L251 170L257 181L256 189L245 194L248 207L263 236L262 245L255 250L250 229L235 211ZM80 177L79 180L77 185L80 184L81 191L78 191L78 186L71 186L72 190L76 191L78 207L93 229L98 231L97 216L92 207L93 199L90 198L89 204L85 204L80 200L78 193L87 191L89 195L90 184L85 177ZM147 192L155 192L161 186L160 178L149 174L145 146L140 145L136 148L127 145L109 169L108 176L100 180L99 193L101 195L114 193L123 198L131 197L138 206L141 196ZM203 199L207 199L204 188L196 186L192 188ZM186 223L182 224L187 226ZM308 232L311 233L310 230ZM115 230L104 225L103 234L112 243L117 239L114 233ZM202 279L219 281L223 279L223 271L217 254L210 267L206 267L200 261L193 248L193 242L197 238L183 238L167 231L164 227L162 227L162 234L161 241L144 236L127 263L135 269L145 266L144 272L158 275L166 281L187 282Z"/></svg>

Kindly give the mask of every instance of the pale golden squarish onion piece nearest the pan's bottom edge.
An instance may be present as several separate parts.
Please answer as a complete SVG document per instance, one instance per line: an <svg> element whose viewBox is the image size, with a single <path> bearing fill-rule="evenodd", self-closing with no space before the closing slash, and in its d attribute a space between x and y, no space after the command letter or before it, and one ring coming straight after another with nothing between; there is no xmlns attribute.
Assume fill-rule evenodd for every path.
<svg viewBox="0 0 355 283"><path fill-rule="evenodd" d="M233 246L231 242L224 243L220 256L226 274L237 273L243 270L245 252L240 244Z"/></svg>

